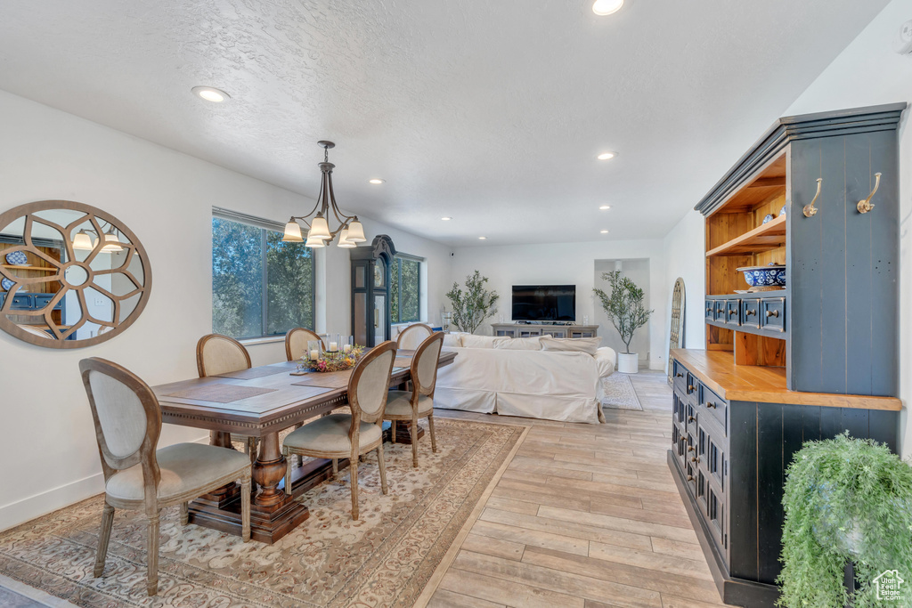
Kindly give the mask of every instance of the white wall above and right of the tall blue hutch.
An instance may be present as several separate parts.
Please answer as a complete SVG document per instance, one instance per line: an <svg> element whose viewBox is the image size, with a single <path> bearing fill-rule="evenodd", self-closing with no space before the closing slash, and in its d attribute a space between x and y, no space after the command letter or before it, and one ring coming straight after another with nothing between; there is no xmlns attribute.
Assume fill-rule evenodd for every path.
<svg viewBox="0 0 912 608"><path fill-rule="evenodd" d="M851 45L814 80L788 108L787 114L806 114L838 108L857 108L896 101L912 102L912 55L893 49L900 26L912 19L912 0L893 0ZM899 126L899 397L905 408L900 422L904 457L912 454L908 410L912 398L912 129L908 110Z"/></svg>

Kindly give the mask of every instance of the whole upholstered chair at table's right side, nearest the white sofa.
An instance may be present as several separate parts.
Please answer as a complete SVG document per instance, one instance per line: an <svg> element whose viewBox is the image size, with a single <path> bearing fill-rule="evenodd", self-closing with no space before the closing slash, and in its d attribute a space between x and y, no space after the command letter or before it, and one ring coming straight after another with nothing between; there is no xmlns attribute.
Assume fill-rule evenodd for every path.
<svg viewBox="0 0 912 608"><path fill-rule="evenodd" d="M387 397L384 420L392 422L392 440L396 441L396 425L402 421L411 422L411 464L418 466L418 419L428 418L430 449L437 452L437 438L434 436L434 388L437 386L437 364L443 333L437 332L425 338L415 350L411 359L411 390L391 390Z"/></svg>

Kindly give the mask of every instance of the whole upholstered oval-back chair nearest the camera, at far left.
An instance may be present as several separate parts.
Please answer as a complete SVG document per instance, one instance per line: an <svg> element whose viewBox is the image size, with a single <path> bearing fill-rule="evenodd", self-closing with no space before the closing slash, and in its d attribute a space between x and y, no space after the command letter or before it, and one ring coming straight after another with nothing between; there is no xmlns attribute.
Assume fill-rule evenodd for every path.
<svg viewBox="0 0 912 608"><path fill-rule="evenodd" d="M242 538L250 540L250 461L231 449L178 443L156 449L161 434L161 407L139 376L105 359L79 362L82 383L95 423L105 506L95 555L95 577L105 570L115 509L142 510L149 523L146 589L159 588L159 513L181 505L187 524L187 503L235 480L241 481Z"/></svg>

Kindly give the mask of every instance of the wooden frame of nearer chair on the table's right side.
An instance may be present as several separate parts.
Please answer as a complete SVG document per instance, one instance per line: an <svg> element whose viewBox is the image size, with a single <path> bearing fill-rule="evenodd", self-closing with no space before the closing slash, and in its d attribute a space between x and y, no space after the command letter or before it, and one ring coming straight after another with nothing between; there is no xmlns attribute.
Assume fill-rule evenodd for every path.
<svg viewBox="0 0 912 608"><path fill-rule="evenodd" d="M392 355L389 357L389 369L387 370L386 376L387 382L386 386L383 387L382 401L375 414L368 414L358 405L358 383L361 381L361 375L364 373L367 366L378 356L383 356L386 353L391 353ZM370 349L368 353L358 361L358 366L355 366L354 371L352 371L351 378L348 380L348 406L351 407L351 426L348 429L348 440L351 443L350 452L291 448L287 445L282 446L282 454L285 456L286 460L288 460L289 455L332 459L334 475L338 473L338 460L348 459L348 467L351 472L351 517L353 520L358 520L358 459L362 454L368 454L369 452L377 450L377 462L380 469L380 487L383 489L384 494L389 493L389 488L387 487L387 468L386 463L383 460L383 414L387 407L389 379L392 376L395 364L396 343L388 340L387 342ZM380 437L367 445L361 445L360 442L362 420L364 422L374 423L380 428ZM285 469L285 491L288 493L291 492L291 460L288 460L287 468Z"/></svg>

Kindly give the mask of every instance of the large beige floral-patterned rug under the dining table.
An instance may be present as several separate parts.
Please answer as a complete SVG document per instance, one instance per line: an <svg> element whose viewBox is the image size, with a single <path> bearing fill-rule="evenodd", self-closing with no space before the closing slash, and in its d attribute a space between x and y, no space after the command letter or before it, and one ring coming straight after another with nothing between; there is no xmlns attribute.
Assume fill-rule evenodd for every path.
<svg viewBox="0 0 912 608"><path fill-rule="evenodd" d="M523 427L435 417L440 451L420 440L385 445L358 467L360 517L351 520L347 470L306 492L310 519L274 545L161 513L159 594L145 591L146 525L118 510L105 575L92 577L103 496L0 534L0 572L79 606L412 606L523 436ZM474 514L473 514L474 511Z"/></svg>

